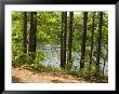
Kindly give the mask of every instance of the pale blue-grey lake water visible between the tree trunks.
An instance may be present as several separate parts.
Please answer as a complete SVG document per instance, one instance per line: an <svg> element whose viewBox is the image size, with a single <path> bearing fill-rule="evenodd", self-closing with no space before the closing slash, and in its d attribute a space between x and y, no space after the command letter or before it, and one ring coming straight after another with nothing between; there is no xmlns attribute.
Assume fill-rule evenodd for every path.
<svg viewBox="0 0 119 94"><path fill-rule="evenodd" d="M41 61L40 63L48 66L51 65L53 67L60 67L61 66L61 49L60 45L53 45L52 48L49 46L42 46L40 50L44 51L47 53L47 56ZM74 58L74 65L72 68L79 69L80 68L80 53L79 52L72 52L71 56ZM104 63L102 61L102 63ZM101 64L101 68L103 69L103 64ZM108 75L108 63L105 65L104 73Z"/></svg>

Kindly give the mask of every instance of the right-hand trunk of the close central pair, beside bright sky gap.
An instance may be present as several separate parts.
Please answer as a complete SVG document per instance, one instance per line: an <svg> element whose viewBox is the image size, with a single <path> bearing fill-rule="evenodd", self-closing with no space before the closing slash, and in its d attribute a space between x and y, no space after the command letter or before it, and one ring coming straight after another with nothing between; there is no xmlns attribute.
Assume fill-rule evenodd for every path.
<svg viewBox="0 0 119 94"><path fill-rule="evenodd" d="M72 48L72 17L74 17L74 12L69 12L69 36L68 36L68 59L67 59L67 63L71 61L71 48Z"/></svg>

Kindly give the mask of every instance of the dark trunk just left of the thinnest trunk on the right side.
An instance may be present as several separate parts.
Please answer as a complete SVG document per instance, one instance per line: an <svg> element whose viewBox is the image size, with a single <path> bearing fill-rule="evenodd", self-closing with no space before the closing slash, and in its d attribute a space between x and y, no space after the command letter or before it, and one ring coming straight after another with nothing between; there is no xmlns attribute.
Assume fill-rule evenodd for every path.
<svg viewBox="0 0 119 94"><path fill-rule="evenodd" d="M84 66L84 53L85 53L85 42L87 42L87 21L88 12L83 13L83 33L82 33L82 44L81 44L81 59L80 59L80 69Z"/></svg>

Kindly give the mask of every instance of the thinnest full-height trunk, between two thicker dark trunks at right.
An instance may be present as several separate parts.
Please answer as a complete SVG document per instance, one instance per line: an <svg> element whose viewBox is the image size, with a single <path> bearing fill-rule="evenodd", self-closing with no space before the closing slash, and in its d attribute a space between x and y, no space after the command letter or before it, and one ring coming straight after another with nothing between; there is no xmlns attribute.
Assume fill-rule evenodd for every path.
<svg viewBox="0 0 119 94"><path fill-rule="evenodd" d="M93 13L93 17L92 17L93 22L92 22L90 65L92 64L92 53L93 53L94 18L95 18L95 12Z"/></svg>

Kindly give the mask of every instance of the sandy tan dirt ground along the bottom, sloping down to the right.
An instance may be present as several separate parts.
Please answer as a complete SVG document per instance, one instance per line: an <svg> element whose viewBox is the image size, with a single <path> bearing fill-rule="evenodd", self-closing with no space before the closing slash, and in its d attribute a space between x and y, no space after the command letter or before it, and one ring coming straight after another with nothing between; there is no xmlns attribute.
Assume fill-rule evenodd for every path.
<svg viewBox="0 0 119 94"><path fill-rule="evenodd" d="M66 73L41 72L12 67L13 83L94 83L94 81Z"/></svg>

